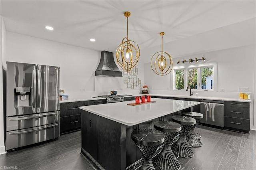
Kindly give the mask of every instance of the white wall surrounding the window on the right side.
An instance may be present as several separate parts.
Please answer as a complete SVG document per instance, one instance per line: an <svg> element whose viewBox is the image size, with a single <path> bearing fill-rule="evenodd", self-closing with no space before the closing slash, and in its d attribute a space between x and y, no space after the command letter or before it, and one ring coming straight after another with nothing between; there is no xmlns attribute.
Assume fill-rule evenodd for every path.
<svg viewBox="0 0 256 170"><path fill-rule="evenodd" d="M191 64L188 62L177 64L177 61L195 59L196 57L206 58L204 64L216 63L217 84L214 91L198 91L199 96L239 98L238 87L248 87L252 99L250 125L251 129L256 130L254 111L254 93L256 90L255 33L255 18L253 18L176 42L165 43L163 50L174 57L174 68L189 67ZM156 47L148 49L143 55L152 56L156 49L160 51L160 47ZM148 61L145 62L145 83L149 89L152 88L151 93L188 95L185 90L172 90L171 75L163 77L156 75L151 70L149 61L150 58L148 57ZM200 66L202 62L193 62L192 65ZM224 89L225 92L219 92L219 89Z"/></svg>

